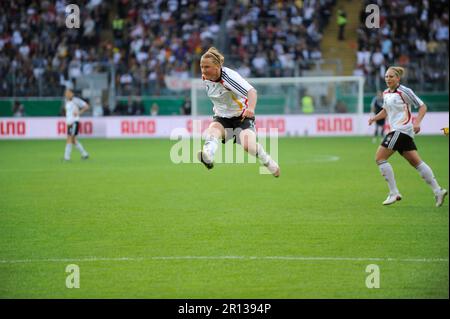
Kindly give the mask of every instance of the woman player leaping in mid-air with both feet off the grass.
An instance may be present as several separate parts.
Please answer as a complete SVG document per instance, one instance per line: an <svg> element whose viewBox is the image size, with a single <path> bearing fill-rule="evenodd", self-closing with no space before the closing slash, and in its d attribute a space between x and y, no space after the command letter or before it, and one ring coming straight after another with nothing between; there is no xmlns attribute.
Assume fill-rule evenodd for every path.
<svg viewBox="0 0 450 319"><path fill-rule="evenodd" d="M223 66L223 55L211 47L200 60L202 79L207 95L214 107L213 122L205 133L203 150L198 159L208 168L214 166L214 154L222 143L230 138L230 130L236 141L249 154L256 156L273 176L280 176L280 167L256 142L255 107L257 93L255 88L236 71ZM227 130L225 130L227 129Z"/></svg>

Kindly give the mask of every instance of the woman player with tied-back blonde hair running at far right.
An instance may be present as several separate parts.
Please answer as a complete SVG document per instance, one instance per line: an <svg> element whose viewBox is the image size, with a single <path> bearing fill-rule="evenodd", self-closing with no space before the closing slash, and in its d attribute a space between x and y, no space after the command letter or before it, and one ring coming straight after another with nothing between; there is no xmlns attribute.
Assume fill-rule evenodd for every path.
<svg viewBox="0 0 450 319"><path fill-rule="evenodd" d="M389 157L398 151L431 186L436 199L436 207L439 207L444 202L447 190L439 186L431 168L421 160L414 143L414 134L420 132L420 123L425 116L427 106L411 89L400 84L404 71L401 67L390 67L386 71L384 79L388 88L383 92L383 109L369 119L369 125L371 125L387 116L392 129L381 142L375 155L381 174L389 186L389 195L383 205L390 205L402 199L395 182L392 166L387 162ZM411 105L419 108L419 114L414 124L412 123Z"/></svg>

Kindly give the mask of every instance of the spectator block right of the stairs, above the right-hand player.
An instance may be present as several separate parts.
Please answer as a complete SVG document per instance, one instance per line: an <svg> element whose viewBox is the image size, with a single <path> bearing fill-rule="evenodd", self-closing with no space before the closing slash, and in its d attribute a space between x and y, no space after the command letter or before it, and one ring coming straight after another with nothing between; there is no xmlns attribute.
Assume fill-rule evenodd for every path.
<svg viewBox="0 0 450 319"><path fill-rule="evenodd" d="M384 87L389 65L407 67L408 85L416 89L448 90L448 1L365 1L380 8L380 29L366 27L361 11L355 75L365 75L368 87Z"/></svg>

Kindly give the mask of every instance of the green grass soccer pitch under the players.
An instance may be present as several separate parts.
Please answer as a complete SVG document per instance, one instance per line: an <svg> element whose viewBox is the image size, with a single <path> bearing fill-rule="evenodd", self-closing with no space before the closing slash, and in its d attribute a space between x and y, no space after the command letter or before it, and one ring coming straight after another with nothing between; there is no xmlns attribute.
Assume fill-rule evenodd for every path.
<svg viewBox="0 0 450 319"><path fill-rule="evenodd" d="M382 206L370 137L282 138L279 179L173 164L170 140L81 141L71 163L62 140L0 141L0 298L449 297L448 200L396 154L403 200ZM448 188L448 138L416 143Z"/></svg>

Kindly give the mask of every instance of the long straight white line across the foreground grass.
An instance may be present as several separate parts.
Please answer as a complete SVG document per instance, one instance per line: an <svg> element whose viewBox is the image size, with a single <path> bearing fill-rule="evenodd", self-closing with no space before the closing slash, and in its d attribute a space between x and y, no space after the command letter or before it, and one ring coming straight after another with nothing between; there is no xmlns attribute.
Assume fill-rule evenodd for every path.
<svg viewBox="0 0 450 319"><path fill-rule="evenodd" d="M153 257L85 257L46 259L0 259L0 264L75 263L99 261L160 261L160 260L282 260L282 261L343 261L343 262L410 262L448 263L448 258L368 258L368 257L306 257L306 256L153 256Z"/></svg>

